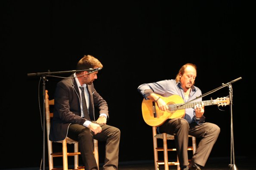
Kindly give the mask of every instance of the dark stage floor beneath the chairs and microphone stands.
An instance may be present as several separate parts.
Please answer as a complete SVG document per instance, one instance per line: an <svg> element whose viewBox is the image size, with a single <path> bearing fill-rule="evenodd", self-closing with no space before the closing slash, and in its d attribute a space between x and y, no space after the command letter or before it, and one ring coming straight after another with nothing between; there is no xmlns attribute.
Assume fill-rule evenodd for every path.
<svg viewBox="0 0 256 170"><path fill-rule="evenodd" d="M256 158L235 158L235 166L228 167L230 158L209 158L205 167L202 170L256 170ZM120 162L119 170L154 170L153 161L134 161ZM40 170L39 167L15 168L15 169L0 169L0 170ZM48 167L46 167L48 170ZM102 170L102 168L100 168ZM159 170L164 170L163 165L160 165ZM176 166L169 166L169 170L177 170Z"/></svg>

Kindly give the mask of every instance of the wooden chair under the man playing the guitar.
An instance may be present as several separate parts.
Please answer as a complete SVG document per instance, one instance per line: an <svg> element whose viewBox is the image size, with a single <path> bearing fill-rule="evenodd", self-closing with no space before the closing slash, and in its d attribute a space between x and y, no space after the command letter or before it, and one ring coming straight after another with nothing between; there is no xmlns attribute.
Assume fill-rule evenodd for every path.
<svg viewBox="0 0 256 170"><path fill-rule="evenodd" d="M154 166L155 170L159 170L159 165L164 165L164 170L169 170L169 165L177 165L177 170L180 170L179 168L179 159L177 156L177 161L169 162L168 160L168 151L176 151L176 148L168 149L167 148L167 140L174 140L174 136L162 133L157 134L157 127L152 126L153 130L153 146L154 146ZM196 152L196 138L193 136L188 135L188 137L191 137L192 139L192 146L188 146L188 150L193 151L193 154ZM163 139L163 147L157 147L157 139ZM158 152L163 151L163 161L158 160ZM188 160L190 161L190 160Z"/></svg>

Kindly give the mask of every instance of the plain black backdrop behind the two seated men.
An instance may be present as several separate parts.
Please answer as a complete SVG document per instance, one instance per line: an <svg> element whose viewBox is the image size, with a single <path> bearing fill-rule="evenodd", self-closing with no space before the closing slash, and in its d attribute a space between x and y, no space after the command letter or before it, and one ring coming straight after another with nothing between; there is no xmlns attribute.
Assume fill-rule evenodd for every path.
<svg viewBox="0 0 256 170"><path fill-rule="evenodd" d="M27 74L74 70L85 54L104 66L94 84L108 102L108 123L121 130L120 162L154 158L137 87L175 78L185 63L197 65L195 85L203 93L242 78L232 84L234 151L253 156L253 6L239 0L1 1L0 169L40 166L42 81ZM61 78L47 79L51 98ZM203 100L227 95L225 87ZM210 157L231 155L229 108L206 107L207 122L221 128ZM104 143L99 149L103 163Z"/></svg>

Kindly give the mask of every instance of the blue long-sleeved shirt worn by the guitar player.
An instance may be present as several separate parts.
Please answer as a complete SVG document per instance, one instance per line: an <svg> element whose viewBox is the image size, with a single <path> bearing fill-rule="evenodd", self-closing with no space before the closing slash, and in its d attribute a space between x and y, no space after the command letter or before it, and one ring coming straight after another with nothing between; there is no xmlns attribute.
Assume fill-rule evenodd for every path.
<svg viewBox="0 0 256 170"><path fill-rule="evenodd" d="M181 87L181 83L180 82L176 83L176 81L173 80L173 79L157 81L157 82L154 82L154 83L148 83L148 84L140 85L138 87L138 91L142 94L142 96L146 100L148 100L147 96L149 94L146 94L145 90L148 90L148 89L151 89L154 93L156 93L158 95L161 95L163 97L169 97L171 95L179 95L183 98L184 102L191 101L192 99L196 98L197 96L202 95L201 90L198 87L193 85L193 86L191 86L191 92L189 93L189 98L186 101L184 91ZM202 101L202 98L197 98L194 101ZM201 124L201 123L204 122L204 119L201 119L199 121L195 119L194 106L191 107L191 108L186 108L185 109L184 119L186 119L188 121L188 123L196 122L197 124Z"/></svg>

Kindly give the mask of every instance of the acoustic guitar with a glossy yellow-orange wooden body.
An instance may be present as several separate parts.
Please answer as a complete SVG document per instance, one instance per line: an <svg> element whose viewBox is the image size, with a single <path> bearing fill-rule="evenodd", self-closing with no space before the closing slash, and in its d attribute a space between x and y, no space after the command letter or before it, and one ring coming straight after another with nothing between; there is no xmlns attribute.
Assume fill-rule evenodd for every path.
<svg viewBox="0 0 256 170"><path fill-rule="evenodd" d="M179 95L171 95L169 97L163 97L158 95L165 101L168 105L168 110L162 111L157 107L157 103L152 100L142 101L142 116L144 121L150 126L159 126L162 125L163 122L167 119L173 118L182 118L185 115L185 109L192 108L196 104L201 104L204 102L204 106L209 105L218 105L218 106L226 106L229 104L229 98L216 98L215 100L207 100L207 101L195 101L184 103L182 97Z"/></svg>

